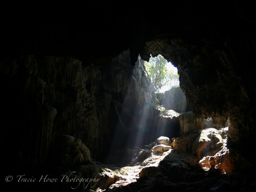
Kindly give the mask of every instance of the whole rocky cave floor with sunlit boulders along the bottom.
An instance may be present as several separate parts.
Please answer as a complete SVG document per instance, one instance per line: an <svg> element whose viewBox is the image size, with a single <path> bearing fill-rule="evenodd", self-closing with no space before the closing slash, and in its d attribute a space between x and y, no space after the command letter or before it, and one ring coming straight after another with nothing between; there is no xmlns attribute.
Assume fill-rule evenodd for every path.
<svg viewBox="0 0 256 192"><path fill-rule="evenodd" d="M118 150L108 158L111 164L91 158L80 139L61 135L51 147L45 170L33 175L43 182L18 182L17 188L95 192L255 191L253 162L227 147L228 127L215 125L210 118L193 119L190 113L178 115L173 110L161 111L159 118L169 123L178 121L183 134L173 138L161 136L148 145L122 149L123 153Z"/></svg>

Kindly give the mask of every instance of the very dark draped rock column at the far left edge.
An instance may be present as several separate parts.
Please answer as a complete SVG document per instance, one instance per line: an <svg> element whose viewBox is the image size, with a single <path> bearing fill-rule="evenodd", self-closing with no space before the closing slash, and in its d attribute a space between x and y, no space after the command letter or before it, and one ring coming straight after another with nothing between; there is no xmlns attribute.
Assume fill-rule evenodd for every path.
<svg viewBox="0 0 256 192"><path fill-rule="evenodd" d="M17 152L10 160L11 164L41 166L48 155L53 120L57 114L52 107L54 88L39 76L34 56L27 55L6 62L2 63L4 67L1 69L1 77L7 79L2 87L5 92L3 100L11 102L3 114L5 122L2 128L4 135L13 134L15 141L10 143L6 154Z"/></svg>

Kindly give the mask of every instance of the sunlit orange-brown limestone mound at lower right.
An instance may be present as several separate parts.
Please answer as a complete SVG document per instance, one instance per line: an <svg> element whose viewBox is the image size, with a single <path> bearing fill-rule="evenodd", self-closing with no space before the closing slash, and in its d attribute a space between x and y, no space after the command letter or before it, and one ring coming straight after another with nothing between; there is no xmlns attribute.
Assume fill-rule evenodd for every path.
<svg viewBox="0 0 256 192"><path fill-rule="evenodd" d="M228 174L250 167L244 157L227 148L227 133L227 127L219 130L195 130L189 135L172 138L171 146L177 151L195 155L200 167L219 168ZM240 164L238 161L243 163Z"/></svg>

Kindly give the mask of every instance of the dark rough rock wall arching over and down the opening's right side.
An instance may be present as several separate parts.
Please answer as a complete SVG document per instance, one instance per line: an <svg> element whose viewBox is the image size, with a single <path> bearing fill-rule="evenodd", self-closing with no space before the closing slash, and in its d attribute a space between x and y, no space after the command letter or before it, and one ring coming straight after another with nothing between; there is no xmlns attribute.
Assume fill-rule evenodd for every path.
<svg viewBox="0 0 256 192"><path fill-rule="evenodd" d="M238 61L227 46L230 39L220 39L216 34L196 37L200 40L185 37L147 42L141 56L148 60L148 53L154 53L152 56L162 54L172 62L178 68L180 87L188 103L192 104L193 116L212 117L215 124L222 125L229 117L228 143L241 147L253 130L250 102L254 102L249 102L246 85L235 71ZM251 46L249 41L248 47ZM244 52L240 47L233 49Z"/></svg>

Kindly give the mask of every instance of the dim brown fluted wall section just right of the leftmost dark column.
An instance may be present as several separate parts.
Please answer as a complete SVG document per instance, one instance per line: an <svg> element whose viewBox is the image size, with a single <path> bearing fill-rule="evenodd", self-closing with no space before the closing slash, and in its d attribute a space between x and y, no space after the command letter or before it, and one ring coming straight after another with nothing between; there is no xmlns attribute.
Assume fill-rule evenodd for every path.
<svg viewBox="0 0 256 192"><path fill-rule="evenodd" d="M58 111L53 121L52 142L55 137L67 133L97 152L99 119L94 92L101 79L99 70L85 68L73 58L38 57L35 62L37 75L54 87L53 94L45 94L49 100L54 99L52 105Z"/></svg>

